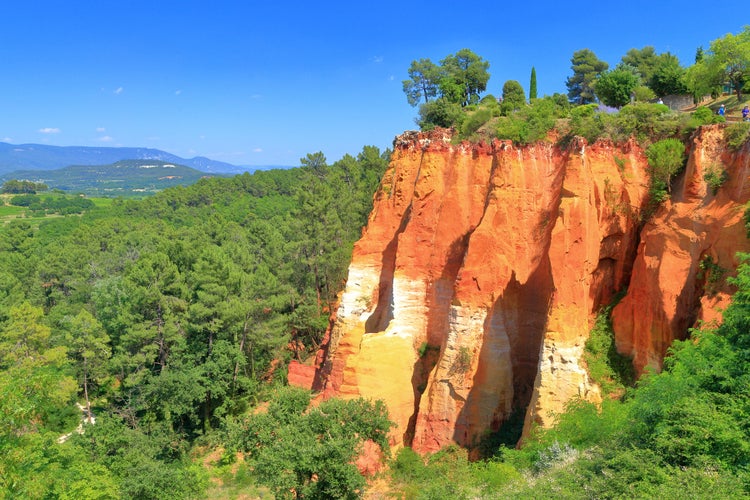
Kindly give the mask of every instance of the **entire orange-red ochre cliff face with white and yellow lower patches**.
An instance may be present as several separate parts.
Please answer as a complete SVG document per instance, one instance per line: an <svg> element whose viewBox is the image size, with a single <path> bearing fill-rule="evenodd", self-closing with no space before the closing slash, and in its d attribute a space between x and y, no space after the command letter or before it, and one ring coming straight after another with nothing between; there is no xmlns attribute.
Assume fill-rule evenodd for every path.
<svg viewBox="0 0 750 500"><path fill-rule="evenodd" d="M705 165L735 161L719 155L713 139L694 144L700 159L693 155L674 203L655 219L672 222L649 224L643 238L648 178L635 144L452 145L450 132L438 129L406 133L394 146L319 374L329 395L385 400L397 424L394 444L471 446L514 410L526 411L527 427L548 425L571 398L599 400L583 346L597 309L631 274L617 341L643 366L660 361L680 328L711 305L700 301L696 262L711 255L736 265L747 157L736 159L744 167L732 167L720 190L728 193L713 197L702 181ZM728 219L718 215L707 219L687 206L681 219L669 215L689 200L732 213L734 240L724 241ZM703 234L709 225L711 237ZM661 240L651 243L651 233ZM674 266L654 281L649 258L660 252L666 262L661 254L674 253L673 239L686 241L690 264L675 266L686 269L680 279L692 278L683 285L692 295L670 288L669 301L660 294L677 278ZM664 307L643 313L657 304Z"/></svg>

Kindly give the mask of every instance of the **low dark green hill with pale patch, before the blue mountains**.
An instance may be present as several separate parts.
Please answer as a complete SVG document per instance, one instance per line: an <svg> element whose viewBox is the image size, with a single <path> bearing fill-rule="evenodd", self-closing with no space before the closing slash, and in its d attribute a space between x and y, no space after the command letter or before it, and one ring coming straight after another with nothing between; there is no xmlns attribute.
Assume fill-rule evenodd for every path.
<svg viewBox="0 0 750 500"><path fill-rule="evenodd" d="M123 160L109 165L71 165L56 170L18 170L0 176L43 182L50 189L92 196L151 194L172 186L187 186L212 177L184 165L159 160Z"/></svg>

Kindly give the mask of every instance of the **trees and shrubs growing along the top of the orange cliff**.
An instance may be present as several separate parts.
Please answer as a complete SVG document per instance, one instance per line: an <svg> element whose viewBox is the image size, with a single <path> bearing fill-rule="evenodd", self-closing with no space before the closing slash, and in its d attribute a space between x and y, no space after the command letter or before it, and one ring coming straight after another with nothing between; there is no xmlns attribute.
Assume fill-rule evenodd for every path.
<svg viewBox="0 0 750 500"><path fill-rule="evenodd" d="M465 73L451 70L446 64L456 56L448 56L441 66L421 59L412 63L410 79L403 84L409 103L419 106L416 121L420 128L454 127L460 139L496 137L526 144L544 139L555 128L562 140L570 134L589 141L601 137L627 140L631 135L652 142L670 136L685 137L695 127L715 122L717 117L705 111L685 117L667 107L648 111L646 104L655 102L657 97L680 94L692 94L694 101L700 103L708 95L715 99L726 88L736 94L732 108L736 112L746 101L743 91L747 92L750 85L750 27L714 40L706 52L699 50L689 68L680 66L673 54L657 54L651 46L630 49L611 70L591 50L576 51L571 59L573 74L565 82L567 95L537 99L536 89L531 88L536 83L536 70L532 68L528 102L523 87L514 80L503 84L501 96L489 94L480 98L489 80L489 63L468 49L459 53L471 61L462 66ZM463 83L469 80L481 85ZM452 90L455 88L465 90L459 93ZM420 104L422 98L424 102ZM631 109L633 106L636 109ZM625 116L621 117L622 113ZM647 123L640 125L642 130L636 130L638 124L634 120Z"/></svg>

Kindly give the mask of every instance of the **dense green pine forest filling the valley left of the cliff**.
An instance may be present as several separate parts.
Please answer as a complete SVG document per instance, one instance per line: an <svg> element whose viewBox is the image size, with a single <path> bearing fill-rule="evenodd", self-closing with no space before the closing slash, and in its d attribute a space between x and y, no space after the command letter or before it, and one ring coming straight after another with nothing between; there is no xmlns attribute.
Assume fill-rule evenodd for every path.
<svg viewBox="0 0 750 500"><path fill-rule="evenodd" d="M96 498L87 478L105 498L202 496L189 448L317 349L389 155L313 153L299 169L0 227L0 496ZM286 412L308 400L272 409L302 418ZM63 446L76 403L96 425Z"/></svg>

